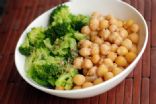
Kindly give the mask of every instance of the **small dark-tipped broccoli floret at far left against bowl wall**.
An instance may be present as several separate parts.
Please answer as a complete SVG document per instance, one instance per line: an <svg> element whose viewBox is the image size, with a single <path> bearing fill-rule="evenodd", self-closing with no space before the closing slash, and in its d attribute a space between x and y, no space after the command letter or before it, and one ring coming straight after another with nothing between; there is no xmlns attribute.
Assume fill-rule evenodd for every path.
<svg viewBox="0 0 156 104"><path fill-rule="evenodd" d="M24 43L19 47L19 51L22 55L28 56L31 54L33 47L30 45L28 37L26 37Z"/></svg>

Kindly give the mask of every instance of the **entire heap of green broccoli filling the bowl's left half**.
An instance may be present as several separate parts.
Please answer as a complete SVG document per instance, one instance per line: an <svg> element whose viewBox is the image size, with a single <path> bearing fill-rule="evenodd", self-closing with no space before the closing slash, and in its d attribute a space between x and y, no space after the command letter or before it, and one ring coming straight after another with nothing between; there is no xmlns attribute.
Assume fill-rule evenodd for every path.
<svg viewBox="0 0 156 104"><path fill-rule="evenodd" d="M72 66L78 56L77 42L88 38L79 31L88 21L87 16L73 15L68 6L60 5L50 14L47 28L32 28L19 47L26 56L27 75L46 87L71 89L78 74Z"/></svg>

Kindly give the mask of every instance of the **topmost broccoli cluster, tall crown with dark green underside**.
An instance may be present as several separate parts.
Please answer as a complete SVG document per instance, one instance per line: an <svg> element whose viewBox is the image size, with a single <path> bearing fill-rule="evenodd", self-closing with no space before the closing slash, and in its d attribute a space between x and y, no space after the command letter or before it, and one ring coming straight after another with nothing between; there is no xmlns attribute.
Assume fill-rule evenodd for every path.
<svg viewBox="0 0 156 104"><path fill-rule="evenodd" d="M69 7L60 5L50 15L50 24L45 34L51 39L51 43L68 33L80 31L89 22L88 16L73 15Z"/></svg>

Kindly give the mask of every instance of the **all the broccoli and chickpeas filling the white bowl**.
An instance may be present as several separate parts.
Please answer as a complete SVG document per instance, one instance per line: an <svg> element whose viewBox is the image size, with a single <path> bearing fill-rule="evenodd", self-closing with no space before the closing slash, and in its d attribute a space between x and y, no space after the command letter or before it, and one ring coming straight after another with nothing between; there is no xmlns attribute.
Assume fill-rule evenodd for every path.
<svg viewBox="0 0 156 104"><path fill-rule="evenodd" d="M34 27L19 47L28 77L57 90L90 87L122 72L137 56L139 26L94 12L74 15L60 5L47 28Z"/></svg>

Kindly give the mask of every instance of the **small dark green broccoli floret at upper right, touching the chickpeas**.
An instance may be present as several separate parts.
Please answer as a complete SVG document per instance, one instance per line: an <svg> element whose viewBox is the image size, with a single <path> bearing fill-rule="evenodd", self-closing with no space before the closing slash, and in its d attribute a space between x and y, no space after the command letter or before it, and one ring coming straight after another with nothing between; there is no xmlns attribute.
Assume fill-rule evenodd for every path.
<svg viewBox="0 0 156 104"><path fill-rule="evenodd" d="M76 31L81 31L81 28L89 23L89 17L84 15L73 15L71 26Z"/></svg>

